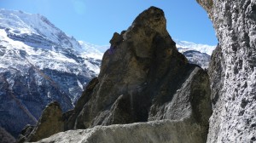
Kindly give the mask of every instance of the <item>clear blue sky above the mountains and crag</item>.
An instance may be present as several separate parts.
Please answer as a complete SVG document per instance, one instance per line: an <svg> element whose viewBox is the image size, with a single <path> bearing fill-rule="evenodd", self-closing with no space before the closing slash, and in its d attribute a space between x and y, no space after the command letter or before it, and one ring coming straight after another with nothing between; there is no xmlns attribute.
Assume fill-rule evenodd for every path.
<svg viewBox="0 0 256 143"><path fill-rule="evenodd" d="M207 13L195 0L0 0L1 9L42 14L67 35L98 45L108 44L150 6L163 9L167 30L178 40L216 45Z"/></svg>

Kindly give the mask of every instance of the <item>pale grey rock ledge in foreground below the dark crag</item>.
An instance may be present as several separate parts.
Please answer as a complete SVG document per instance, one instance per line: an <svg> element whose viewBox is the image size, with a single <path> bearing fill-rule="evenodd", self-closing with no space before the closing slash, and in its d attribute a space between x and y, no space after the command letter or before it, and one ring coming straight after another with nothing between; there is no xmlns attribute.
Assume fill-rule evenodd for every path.
<svg viewBox="0 0 256 143"><path fill-rule="evenodd" d="M192 132L191 132L192 131ZM183 143L205 142L199 126L186 120L161 120L148 123L131 123L96 126L92 129L68 130L55 134L39 143Z"/></svg>

